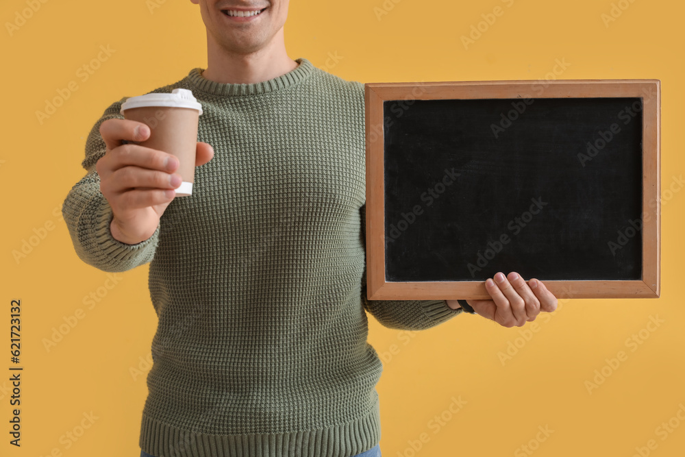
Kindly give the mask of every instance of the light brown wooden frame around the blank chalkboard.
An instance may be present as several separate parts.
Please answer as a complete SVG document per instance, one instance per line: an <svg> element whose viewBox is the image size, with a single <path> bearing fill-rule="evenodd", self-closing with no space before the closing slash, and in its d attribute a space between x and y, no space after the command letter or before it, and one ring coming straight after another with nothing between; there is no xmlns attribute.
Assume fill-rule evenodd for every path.
<svg viewBox="0 0 685 457"><path fill-rule="evenodd" d="M540 92L541 95L533 95ZM490 299L483 281L386 282L384 221L384 101L639 97L643 99L642 280L545 281L558 298L647 298L660 295L660 80L577 79L364 84L366 114L367 297ZM656 207L649 202L656 201ZM649 216L649 217L647 217ZM508 273L508 272L504 272ZM529 278L526 278L529 279Z"/></svg>

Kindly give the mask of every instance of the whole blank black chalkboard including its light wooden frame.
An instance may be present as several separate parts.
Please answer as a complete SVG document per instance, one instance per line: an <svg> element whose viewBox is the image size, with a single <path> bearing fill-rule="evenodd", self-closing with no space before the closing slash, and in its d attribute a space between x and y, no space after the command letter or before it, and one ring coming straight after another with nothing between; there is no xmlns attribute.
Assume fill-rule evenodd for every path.
<svg viewBox="0 0 685 457"><path fill-rule="evenodd" d="M658 80L565 83L366 84L369 298L658 297Z"/></svg>

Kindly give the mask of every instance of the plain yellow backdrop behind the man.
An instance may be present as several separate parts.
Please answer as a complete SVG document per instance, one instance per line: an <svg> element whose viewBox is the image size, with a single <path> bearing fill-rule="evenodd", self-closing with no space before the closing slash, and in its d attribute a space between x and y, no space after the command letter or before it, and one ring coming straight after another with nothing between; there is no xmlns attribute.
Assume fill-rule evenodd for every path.
<svg viewBox="0 0 685 457"><path fill-rule="evenodd" d="M108 274L77 258L60 208L85 173L86 136L103 110L123 96L182 79L195 66L205 68L205 29L189 0L151 0L154 9L145 0L50 0L10 36L6 23L28 8L26 1L0 5L0 369L7 373L0 378L0 454L37 457L58 449L69 457L138 456L146 360L157 323L148 265L117 273L116 286L106 288ZM290 58L306 57L360 82L547 79L557 59L569 63L562 79L661 79L666 190L685 166L685 8L666 0L613 3L627 9L606 25L609 0L292 0L286 46ZM465 49L461 36L496 6L503 14ZM380 11L387 14L377 16ZM101 45L114 53L82 81L79 67L97 58ZM41 125L36 111L69 82L78 89ZM636 447L645 447L643 455L684 455L685 421L672 419L677 428L658 432L685 404L685 311L677 291L685 190L673 186L680 192L662 202L660 299L562 301L556 312L538 317L537 332L531 323L503 328L469 315L423 332L399 332L370 317L369 340L384 357L377 386L383 455L530 455L523 445L536 457L632 456ZM46 224L45 238L16 262L12 251ZM91 309L84 304L90 293L101 295ZM9 306L16 298L25 367L21 448L8 445ZM47 351L44 339L79 308L83 319ZM650 316L663 321L653 332L647 330ZM642 343L627 344L640 331ZM503 363L499 356L509 343L521 347ZM606 359L621 350L627 358L608 369ZM588 393L586 381L603 367L610 375ZM445 412L452 397L466 402L453 415ZM92 426L66 441L66 432L90 412L97 417ZM436 425L434 417L443 413L449 420ZM538 427L553 432L545 438ZM427 442L414 451L412 442L419 447L423 433ZM650 439L656 449L646 449Z"/></svg>

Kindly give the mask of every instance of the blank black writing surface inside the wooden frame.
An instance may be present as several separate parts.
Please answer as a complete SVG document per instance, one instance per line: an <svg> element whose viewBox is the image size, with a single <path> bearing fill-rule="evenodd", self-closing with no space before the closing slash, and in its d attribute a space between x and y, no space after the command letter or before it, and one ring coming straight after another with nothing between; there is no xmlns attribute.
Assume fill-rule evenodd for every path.
<svg viewBox="0 0 685 457"><path fill-rule="evenodd" d="M417 100L388 116L386 279L639 280L641 232L624 246L616 238L642 214L641 100L539 99L496 138L491 126L512 103Z"/></svg>

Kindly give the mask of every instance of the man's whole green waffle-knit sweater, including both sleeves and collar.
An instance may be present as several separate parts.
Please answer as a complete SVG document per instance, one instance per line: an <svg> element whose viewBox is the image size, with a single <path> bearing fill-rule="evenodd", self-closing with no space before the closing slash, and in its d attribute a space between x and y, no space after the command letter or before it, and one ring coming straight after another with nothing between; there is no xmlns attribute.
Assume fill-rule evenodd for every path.
<svg viewBox="0 0 685 457"><path fill-rule="evenodd" d="M462 312L443 300L366 299L364 85L296 61L256 84L220 84L196 68L151 91L192 90L203 107L197 140L214 158L148 240L112 237L95 170L99 126L123 119L127 97L92 127L88 173L64 200L84 262L150 262L158 328L140 447L153 456L364 452L380 439L382 372L366 312L406 330Z"/></svg>

